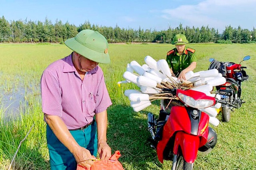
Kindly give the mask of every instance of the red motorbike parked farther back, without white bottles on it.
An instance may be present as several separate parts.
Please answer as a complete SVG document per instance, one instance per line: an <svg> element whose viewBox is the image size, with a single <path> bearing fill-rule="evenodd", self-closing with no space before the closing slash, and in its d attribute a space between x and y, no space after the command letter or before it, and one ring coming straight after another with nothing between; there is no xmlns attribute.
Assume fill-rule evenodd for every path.
<svg viewBox="0 0 256 170"><path fill-rule="evenodd" d="M244 100L241 99L242 88L241 82L246 81L249 76L246 74L241 62L249 60L250 56L245 56L239 64L234 62L219 62L214 58L210 58L210 69L217 69L222 76L226 78L226 83L220 86L216 86L218 93L221 95L222 100L225 100L229 104L222 105L222 116L225 122L230 121L230 111L234 108L240 108Z"/></svg>

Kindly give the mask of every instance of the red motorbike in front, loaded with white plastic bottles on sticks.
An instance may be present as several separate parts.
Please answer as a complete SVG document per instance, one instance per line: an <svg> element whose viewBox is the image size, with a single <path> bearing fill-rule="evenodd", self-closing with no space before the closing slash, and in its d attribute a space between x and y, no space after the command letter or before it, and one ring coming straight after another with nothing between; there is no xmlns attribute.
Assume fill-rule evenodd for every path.
<svg viewBox="0 0 256 170"><path fill-rule="evenodd" d="M217 142L216 132L208 126L208 114L198 109L223 101L194 90L163 90L178 100L164 100L157 120L148 113L152 147L156 148L160 162L173 161L172 170L192 170L198 150L208 153Z"/></svg>

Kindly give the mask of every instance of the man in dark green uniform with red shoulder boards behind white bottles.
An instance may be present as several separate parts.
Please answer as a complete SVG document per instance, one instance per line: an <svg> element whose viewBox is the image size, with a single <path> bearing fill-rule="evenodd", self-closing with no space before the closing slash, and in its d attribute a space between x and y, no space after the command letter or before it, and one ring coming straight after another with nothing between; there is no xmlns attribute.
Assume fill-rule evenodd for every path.
<svg viewBox="0 0 256 170"><path fill-rule="evenodd" d="M167 52L166 61L172 76L178 76L179 80L186 80L185 74L196 68L196 50L186 47L188 40L183 34L174 36L172 44L175 48Z"/></svg>

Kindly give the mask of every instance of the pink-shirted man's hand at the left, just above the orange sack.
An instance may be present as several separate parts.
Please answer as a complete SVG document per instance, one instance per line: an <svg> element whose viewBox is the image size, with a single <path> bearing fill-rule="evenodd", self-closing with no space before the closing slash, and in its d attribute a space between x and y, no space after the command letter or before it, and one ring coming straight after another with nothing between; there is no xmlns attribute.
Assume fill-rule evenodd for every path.
<svg viewBox="0 0 256 170"><path fill-rule="evenodd" d="M76 149L73 155L77 164L86 168L90 168L92 164L94 164L93 161L96 159L95 156L91 155L89 150L83 147Z"/></svg>

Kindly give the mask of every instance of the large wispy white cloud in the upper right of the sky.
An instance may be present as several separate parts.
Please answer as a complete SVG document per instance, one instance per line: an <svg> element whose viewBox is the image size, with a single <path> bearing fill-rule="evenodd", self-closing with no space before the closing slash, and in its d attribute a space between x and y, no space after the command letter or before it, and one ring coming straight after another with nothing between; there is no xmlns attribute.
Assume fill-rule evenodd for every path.
<svg viewBox="0 0 256 170"><path fill-rule="evenodd" d="M224 28L229 24L248 22L250 16L256 16L255 8L256 0L205 0L196 5L162 10L162 18L188 26ZM250 19L255 24L255 19Z"/></svg>

